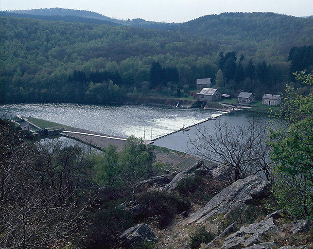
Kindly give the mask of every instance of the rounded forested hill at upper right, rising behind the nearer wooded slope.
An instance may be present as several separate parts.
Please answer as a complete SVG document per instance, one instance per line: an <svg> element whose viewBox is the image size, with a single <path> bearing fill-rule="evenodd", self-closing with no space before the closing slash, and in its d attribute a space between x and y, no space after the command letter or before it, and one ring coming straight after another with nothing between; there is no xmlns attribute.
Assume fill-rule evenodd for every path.
<svg viewBox="0 0 313 249"><path fill-rule="evenodd" d="M235 51L269 50L286 56L293 46L313 41L313 18L296 18L274 13L222 13L197 18L179 26L192 35L216 40Z"/></svg>

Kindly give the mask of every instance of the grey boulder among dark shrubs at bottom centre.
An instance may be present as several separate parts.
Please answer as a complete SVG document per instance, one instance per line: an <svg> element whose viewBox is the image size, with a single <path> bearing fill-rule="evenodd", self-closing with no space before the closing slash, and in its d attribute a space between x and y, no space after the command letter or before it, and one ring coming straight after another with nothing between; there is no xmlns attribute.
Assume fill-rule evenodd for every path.
<svg viewBox="0 0 313 249"><path fill-rule="evenodd" d="M146 224L138 224L124 231L119 237L120 244L125 248L136 247L145 241L157 242L154 232Z"/></svg>

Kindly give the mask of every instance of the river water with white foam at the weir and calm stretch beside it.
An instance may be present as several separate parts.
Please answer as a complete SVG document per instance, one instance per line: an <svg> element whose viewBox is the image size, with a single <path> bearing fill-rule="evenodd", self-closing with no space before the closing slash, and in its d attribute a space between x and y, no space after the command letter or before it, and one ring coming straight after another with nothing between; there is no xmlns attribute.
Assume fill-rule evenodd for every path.
<svg viewBox="0 0 313 249"><path fill-rule="evenodd" d="M191 127L189 131L171 134L156 140L154 143L181 152L188 150L189 138L194 139L196 137L198 127L206 127L207 130L213 132L213 123L218 120L227 121L232 125L240 125L253 116L250 112L233 112L220 116L222 114L224 112L202 108L140 105L104 106L68 103L0 105L1 117L5 115L8 118L11 118L11 115L31 116L122 138L127 138L130 135L144 138L145 133L147 140L177 131L183 124L186 127L207 120L208 117L219 116L217 120L209 120Z"/></svg>

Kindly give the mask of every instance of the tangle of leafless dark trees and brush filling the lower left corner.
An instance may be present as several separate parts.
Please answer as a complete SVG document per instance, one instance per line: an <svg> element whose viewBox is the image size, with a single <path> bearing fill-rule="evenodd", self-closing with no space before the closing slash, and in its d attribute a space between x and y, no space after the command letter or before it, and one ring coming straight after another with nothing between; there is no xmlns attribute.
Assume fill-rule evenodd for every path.
<svg viewBox="0 0 313 249"><path fill-rule="evenodd" d="M69 150L67 153L58 150L55 154L58 160L45 159L50 160L51 168L59 173L52 175L46 171L48 163L34 144L12 131L8 123L0 122L0 248L42 248L78 236L78 228L87 224L84 211L90 204L89 199L80 199L82 203L77 201L68 177L75 170L71 163L78 163L79 156L72 160L75 153ZM67 170L64 170L65 165ZM76 184L78 180L71 182Z"/></svg>

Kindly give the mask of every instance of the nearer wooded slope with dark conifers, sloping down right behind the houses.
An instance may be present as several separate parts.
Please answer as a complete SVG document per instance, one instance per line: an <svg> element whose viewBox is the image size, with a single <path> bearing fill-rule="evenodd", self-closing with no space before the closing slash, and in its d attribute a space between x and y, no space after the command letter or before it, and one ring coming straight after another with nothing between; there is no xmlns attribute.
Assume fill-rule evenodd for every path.
<svg viewBox="0 0 313 249"><path fill-rule="evenodd" d="M119 102L127 94L188 97L197 78L226 93L281 93L311 46L264 59L180 31L1 17L1 102ZM250 50L251 49L251 50ZM306 52L296 52L296 51ZM303 54L305 53L305 54ZM311 57L310 57L311 56ZM302 67L302 66L301 66ZM110 83L112 81L112 83ZM225 91L225 89L224 89Z"/></svg>

